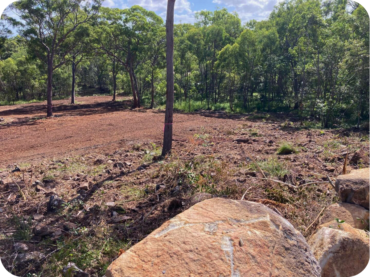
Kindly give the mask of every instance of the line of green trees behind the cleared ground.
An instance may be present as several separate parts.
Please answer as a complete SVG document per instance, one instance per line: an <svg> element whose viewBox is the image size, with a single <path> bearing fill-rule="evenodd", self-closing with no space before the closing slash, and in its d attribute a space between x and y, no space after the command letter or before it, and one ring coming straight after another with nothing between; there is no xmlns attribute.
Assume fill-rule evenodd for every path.
<svg viewBox="0 0 370 277"><path fill-rule="evenodd" d="M19 0L0 24L0 102L71 97L89 90L166 102L166 30L140 6ZM8 25L16 25L11 37ZM322 127L369 122L369 14L355 1L290 0L242 24L226 8L174 25L174 107L291 112ZM0 103L0 104L1 104Z"/></svg>

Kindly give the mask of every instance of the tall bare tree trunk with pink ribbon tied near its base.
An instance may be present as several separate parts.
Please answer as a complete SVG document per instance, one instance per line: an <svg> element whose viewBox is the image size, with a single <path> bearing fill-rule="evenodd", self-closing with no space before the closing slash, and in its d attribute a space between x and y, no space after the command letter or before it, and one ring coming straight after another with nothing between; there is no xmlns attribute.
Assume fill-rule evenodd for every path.
<svg viewBox="0 0 370 277"><path fill-rule="evenodd" d="M174 113L174 6L175 0L167 1L166 16L166 113L162 157L172 150L172 117Z"/></svg>

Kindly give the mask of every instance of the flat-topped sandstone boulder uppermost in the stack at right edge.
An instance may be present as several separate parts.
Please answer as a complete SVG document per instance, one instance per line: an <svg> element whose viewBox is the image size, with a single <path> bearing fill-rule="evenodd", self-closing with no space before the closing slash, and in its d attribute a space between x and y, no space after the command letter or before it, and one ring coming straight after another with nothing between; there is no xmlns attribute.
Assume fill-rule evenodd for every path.
<svg viewBox="0 0 370 277"><path fill-rule="evenodd" d="M370 209L370 170L352 170L350 174L340 175L335 181L335 190L342 202L356 204Z"/></svg>

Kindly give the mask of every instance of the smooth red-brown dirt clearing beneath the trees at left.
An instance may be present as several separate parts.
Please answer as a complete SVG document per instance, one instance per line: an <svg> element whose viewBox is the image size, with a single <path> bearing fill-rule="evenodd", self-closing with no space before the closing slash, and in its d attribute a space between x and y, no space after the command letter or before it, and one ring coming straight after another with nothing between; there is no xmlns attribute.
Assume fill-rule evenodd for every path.
<svg viewBox="0 0 370 277"><path fill-rule="evenodd" d="M120 98L118 98L120 100ZM0 107L0 167L81 153L111 151L124 144L161 143L164 112L130 109L130 100L111 96L53 102L54 118L46 119L46 102ZM224 114L175 114L174 140L184 141L200 127L232 124ZM193 131L194 130L194 131ZM123 145L122 145L123 144ZM174 144L174 147L176 145Z"/></svg>

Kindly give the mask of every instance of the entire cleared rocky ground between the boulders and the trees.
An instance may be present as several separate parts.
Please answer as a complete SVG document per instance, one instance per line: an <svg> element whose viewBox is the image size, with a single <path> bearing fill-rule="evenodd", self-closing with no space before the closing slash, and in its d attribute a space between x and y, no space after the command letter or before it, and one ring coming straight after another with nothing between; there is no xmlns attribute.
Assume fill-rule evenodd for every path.
<svg viewBox="0 0 370 277"><path fill-rule="evenodd" d="M174 153L160 159L163 113L108 99L61 100L53 119L41 118L44 103L0 107L0 256L13 274L68 276L73 263L103 276L166 220L215 196L268 206L309 237L338 201L330 182L343 165L369 166L369 130L223 112L176 113Z"/></svg>

